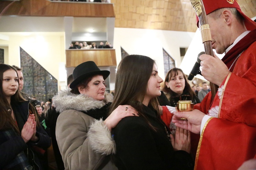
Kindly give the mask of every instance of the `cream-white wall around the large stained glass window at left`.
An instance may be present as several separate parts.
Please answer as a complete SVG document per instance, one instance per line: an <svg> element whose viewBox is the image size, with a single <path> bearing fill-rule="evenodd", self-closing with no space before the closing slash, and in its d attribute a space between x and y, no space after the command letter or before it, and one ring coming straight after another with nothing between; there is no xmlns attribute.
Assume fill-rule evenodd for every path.
<svg viewBox="0 0 256 170"><path fill-rule="evenodd" d="M42 65L58 81L63 81L59 75L59 64L65 62L64 32L54 33L3 33L9 36L9 41L0 40L0 46L8 46L5 53L6 64L20 66L20 49L23 48L34 60ZM6 50L4 50L6 51ZM65 78L66 79L66 78ZM58 84L60 84L58 82ZM58 87L59 88L59 87Z"/></svg>

